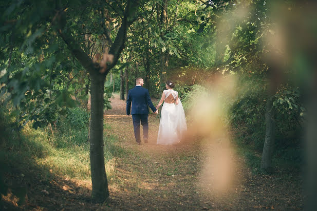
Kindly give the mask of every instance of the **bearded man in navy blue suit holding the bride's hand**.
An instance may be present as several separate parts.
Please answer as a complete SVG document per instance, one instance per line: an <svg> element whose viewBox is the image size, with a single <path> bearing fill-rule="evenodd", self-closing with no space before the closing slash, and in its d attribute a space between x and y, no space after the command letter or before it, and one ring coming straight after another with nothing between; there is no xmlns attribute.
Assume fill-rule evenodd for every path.
<svg viewBox="0 0 317 211"><path fill-rule="evenodd" d="M143 126L143 139L147 143L148 138L148 107L157 114L158 110L153 106L153 103L148 94L148 90L143 88L144 82L142 78L137 78L135 88L129 90L128 98L126 100L126 114L130 116L131 102L132 102L132 119L134 127L134 136L138 144L141 143L140 137L140 122Z"/></svg>

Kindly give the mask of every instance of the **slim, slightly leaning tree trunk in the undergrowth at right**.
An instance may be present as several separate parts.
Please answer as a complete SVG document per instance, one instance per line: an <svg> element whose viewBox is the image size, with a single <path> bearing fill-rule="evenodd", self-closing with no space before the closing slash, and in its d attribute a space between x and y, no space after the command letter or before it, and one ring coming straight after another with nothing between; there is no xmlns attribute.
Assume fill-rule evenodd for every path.
<svg viewBox="0 0 317 211"><path fill-rule="evenodd" d="M261 168L269 170L272 167L272 154L275 141L275 122L274 122L273 95L269 95L266 101L265 111L265 141L262 153Z"/></svg>

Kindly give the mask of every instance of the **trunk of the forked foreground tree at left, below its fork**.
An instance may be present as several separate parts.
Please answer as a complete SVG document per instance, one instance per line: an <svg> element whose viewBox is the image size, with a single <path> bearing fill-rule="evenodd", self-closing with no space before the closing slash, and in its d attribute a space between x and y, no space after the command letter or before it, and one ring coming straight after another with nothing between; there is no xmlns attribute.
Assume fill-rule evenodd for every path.
<svg viewBox="0 0 317 211"><path fill-rule="evenodd" d="M104 162L103 94L105 75L91 73L90 166L92 199L103 202L109 197Z"/></svg>

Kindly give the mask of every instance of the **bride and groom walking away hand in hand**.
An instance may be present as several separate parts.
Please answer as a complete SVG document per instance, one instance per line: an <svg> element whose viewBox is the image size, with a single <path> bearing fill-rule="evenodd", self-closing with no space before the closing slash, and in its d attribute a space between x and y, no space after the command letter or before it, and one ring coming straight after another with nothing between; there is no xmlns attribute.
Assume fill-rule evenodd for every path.
<svg viewBox="0 0 317 211"><path fill-rule="evenodd" d="M160 127L157 136L157 144L169 145L180 142L182 135L187 131L187 124L183 106L178 98L178 92L174 91L174 83L170 80L166 81L166 90L162 93L162 98L156 108L150 98L147 89L143 88L144 82L142 78L137 78L136 87L129 90L126 100L126 114L132 114L134 135L136 142L141 143L140 123L143 126L143 140L147 143L148 139L148 107L153 113L158 114L158 108L164 101ZM132 104L132 108L131 108ZM132 111L131 111L132 110ZM131 111L131 112L130 112Z"/></svg>

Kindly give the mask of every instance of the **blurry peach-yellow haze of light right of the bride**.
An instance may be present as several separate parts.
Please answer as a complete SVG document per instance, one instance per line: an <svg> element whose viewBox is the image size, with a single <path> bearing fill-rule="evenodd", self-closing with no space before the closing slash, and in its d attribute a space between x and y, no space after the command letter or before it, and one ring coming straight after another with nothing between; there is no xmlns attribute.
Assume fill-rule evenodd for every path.
<svg viewBox="0 0 317 211"><path fill-rule="evenodd" d="M188 133L191 137L202 137L209 145L208 149L204 149L207 160L200 172L200 188L221 194L227 192L233 181L237 180L234 150L228 128L223 124L229 106L223 100L234 96L235 78L215 78L207 87L208 90L196 96L195 105L189 112L192 122Z"/></svg>

